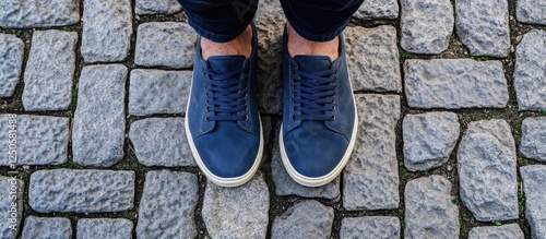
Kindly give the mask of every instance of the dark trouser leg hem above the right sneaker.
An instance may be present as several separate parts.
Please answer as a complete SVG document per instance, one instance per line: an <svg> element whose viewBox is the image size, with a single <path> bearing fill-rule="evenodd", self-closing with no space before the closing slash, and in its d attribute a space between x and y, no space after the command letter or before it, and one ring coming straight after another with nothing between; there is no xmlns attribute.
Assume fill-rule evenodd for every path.
<svg viewBox="0 0 546 239"><path fill-rule="evenodd" d="M364 0L281 0L284 14L301 37L329 41L337 37Z"/></svg>

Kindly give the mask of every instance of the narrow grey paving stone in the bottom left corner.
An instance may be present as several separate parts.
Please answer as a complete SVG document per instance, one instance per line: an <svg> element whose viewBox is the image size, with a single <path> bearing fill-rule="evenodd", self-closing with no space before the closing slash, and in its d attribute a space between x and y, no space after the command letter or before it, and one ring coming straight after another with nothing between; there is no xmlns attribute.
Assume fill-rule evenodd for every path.
<svg viewBox="0 0 546 239"><path fill-rule="evenodd" d="M0 176L0 238L13 239L17 235L23 218L23 180Z"/></svg>

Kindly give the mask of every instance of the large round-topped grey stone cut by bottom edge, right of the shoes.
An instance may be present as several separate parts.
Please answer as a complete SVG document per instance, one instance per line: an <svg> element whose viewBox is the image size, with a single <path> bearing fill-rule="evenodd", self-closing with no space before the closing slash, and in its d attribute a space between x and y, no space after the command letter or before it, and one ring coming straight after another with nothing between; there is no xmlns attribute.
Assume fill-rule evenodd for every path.
<svg viewBox="0 0 546 239"><path fill-rule="evenodd" d="M451 183L438 175L408 181L404 238L459 238L459 207L450 192Z"/></svg>

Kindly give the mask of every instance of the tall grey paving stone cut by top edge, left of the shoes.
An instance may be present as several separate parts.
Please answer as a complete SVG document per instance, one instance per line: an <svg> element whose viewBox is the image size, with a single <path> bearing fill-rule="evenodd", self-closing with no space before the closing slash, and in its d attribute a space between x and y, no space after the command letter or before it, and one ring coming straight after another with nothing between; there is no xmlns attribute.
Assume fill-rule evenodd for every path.
<svg viewBox="0 0 546 239"><path fill-rule="evenodd" d="M83 1L81 51L85 62L123 61L132 34L130 0Z"/></svg>

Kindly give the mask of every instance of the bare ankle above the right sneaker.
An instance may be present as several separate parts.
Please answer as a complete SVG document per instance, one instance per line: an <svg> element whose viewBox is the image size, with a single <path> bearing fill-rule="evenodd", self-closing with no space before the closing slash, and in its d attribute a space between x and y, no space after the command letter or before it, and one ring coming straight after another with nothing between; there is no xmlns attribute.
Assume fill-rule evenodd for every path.
<svg viewBox="0 0 546 239"><path fill-rule="evenodd" d="M340 38L336 37L329 41L312 41L301 37L289 23L286 23L288 32L288 53L290 57L299 55L328 56L332 61L340 56Z"/></svg>

